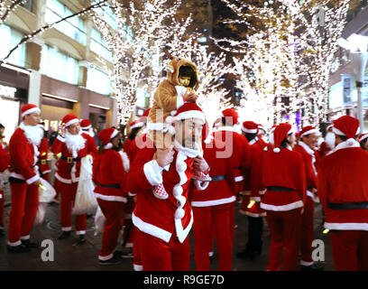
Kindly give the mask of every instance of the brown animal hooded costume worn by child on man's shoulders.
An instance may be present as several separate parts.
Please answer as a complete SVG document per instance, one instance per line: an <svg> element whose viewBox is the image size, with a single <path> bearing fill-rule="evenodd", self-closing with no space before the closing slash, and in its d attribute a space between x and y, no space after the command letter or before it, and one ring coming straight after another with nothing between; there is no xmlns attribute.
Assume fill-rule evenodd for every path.
<svg viewBox="0 0 368 289"><path fill-rule="evenodd" d="M195 71L196 79L191 79L189 87L179 83L179 69L189 66ZM196 64L182 57L173 58L166 66L167 79L163 80L154 93L153 106L147 119L147 128L153 144L158 149L166 149L172 144L175 129L171 126L176 110L184 104L187 89L198 89L198 69Z"/></svg>

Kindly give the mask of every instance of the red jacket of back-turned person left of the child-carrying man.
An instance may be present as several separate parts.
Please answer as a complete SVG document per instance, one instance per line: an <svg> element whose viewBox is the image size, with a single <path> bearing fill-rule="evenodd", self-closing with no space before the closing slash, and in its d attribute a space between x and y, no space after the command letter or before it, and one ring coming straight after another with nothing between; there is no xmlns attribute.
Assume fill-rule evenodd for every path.
<svg viewBox="0 0 368 289"><path fill-rule="evenodd" d="M96 154L93 162L93 182L96 184L96 197L101 200L115 200L126 202L128 194L127 186L127 167L129 166L128 156L124 159L121 154L115 150L103 149L101 153ZM99 186L118 184L118 188L106 188Z"/></svg>

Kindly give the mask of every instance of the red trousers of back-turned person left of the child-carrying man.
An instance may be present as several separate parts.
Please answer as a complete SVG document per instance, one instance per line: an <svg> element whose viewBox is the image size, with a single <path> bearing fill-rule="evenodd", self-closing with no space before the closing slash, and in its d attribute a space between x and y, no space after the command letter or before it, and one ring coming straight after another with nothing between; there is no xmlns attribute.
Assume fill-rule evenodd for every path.
<svg viewBox="0 0 368 289"><path fill-rule="evenodd" d="M117 245L117 238L119 238L119 232L123 226L124 202L101 200L98 198L97 201L106 218L102 247L98 253L98 258L105 261L113 257Z"/></svg>

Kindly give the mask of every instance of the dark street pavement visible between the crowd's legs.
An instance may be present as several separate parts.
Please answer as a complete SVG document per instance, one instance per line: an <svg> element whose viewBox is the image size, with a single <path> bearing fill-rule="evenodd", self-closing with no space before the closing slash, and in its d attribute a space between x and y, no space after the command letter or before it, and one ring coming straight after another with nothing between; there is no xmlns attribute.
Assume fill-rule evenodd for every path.
<svg viewBox="0 0 368 289"><path fill-rule="evenodd" d="M52 178L51 178L52 182ZM7 224L10 212L10 193L8 186L5 188L5 226ZM241 215L238 211L240 204L235 206L235 240L234 240L234 271L264 271L268 264L268 254L270 249L270 231L267 222L264 219L263 226L263 247L262 255L257 256L254 260L244 260L236 256L236 253L243 250L247 240L247 217ZM74 223L73 223L74 224ZM6 228L6 227L5 227ZM325 235L322 225L321 206L315 206L315 239L320 239L324 244L325 271L334 269L328 234ZM25 254L8 253L6 250L6 235L0 237L0 271L7 270L23 270L23 271L132 271L133 258L124 259L123 262L115 266L101 266L98 264L97 254L101 247L102 234L95 236L94 216L87 219L86 243L77 245L78 237L75 234L74 227L71 236L66 240L58 240L60 235L60 205L49 205L46 211L45 219L42 224L34 227L31 233L32 241L42 242L42 240L50 239L54 247L54 260L42 261L42 250L46 247L38 247L32 249L31 252ZM194 238L193 232L189 234L191 257L190 270L194 271ZM49 248L49 247L47 247ZM320 248L320 247L319 247ZM44 252L45 254L45 252ZM320 255L318 255L320 256ZM218 258L215 255L211 262L211 270L216 271L218 267Z"/></svg>

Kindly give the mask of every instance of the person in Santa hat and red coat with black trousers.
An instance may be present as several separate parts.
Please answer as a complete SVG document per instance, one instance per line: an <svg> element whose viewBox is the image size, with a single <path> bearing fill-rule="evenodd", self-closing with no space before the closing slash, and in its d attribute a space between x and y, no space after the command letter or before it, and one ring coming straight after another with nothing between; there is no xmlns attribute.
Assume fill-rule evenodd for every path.
<svg viewBox="0 0 368 289"><path fill-rule="evenodd" d="M262 254L263 218L266 213L261 209L261 198L265 190L262 184L262 160L264 144L258 138L259 126L253 121L245 121L241 127L243 135L251 146L251 167L244 173L245 191L250 191L250 198L243 198L240 213L248 216L248 242L241 258L254 259Z"/></svg>

